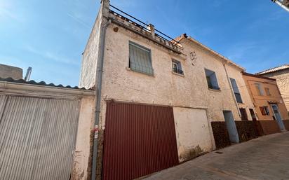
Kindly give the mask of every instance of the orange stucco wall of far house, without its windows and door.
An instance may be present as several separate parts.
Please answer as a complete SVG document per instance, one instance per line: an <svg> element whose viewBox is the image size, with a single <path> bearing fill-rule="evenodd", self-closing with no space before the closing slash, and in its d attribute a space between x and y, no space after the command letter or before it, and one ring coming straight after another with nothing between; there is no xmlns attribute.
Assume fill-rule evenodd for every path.
<svg viewBox="0 0 289 180"><path fill-rule="evenodd" d="M258 120L274 120L274 113L271 104L277 104L283 120L289 119L285 103L283 102L283 98L281 97L274 78L265 78L253 74L243 74L243 77L246 81L246 88L250 91L250 97L255 105ZM263 95L260 95L260 92L258 92L259 90L257 90L255 85L256 83L260 84ZM269 89L270 95L267 95L265 88ZM260 107L262 106L268 107L268 115L262 114L260 110Z"/></svg>

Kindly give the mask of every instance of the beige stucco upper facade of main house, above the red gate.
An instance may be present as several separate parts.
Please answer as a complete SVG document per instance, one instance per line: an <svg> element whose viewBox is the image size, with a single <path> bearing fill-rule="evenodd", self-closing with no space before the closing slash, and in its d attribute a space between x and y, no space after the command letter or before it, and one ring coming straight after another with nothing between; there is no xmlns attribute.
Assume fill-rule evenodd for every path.
<svg viewBox="0 0 289 180"><path fill-rule="evenodd" d="M224 120L222 111L229 110L234 113L236 120L240 120L224 66L227 68L228 76L235 78L238 86L244 85L241 76L243 69L228 64L226 60L222 60L208 50L203 50L189 40L182 42L184 54L178 55L123 27L118 27L118 32L114 32L114 27L118 26L109 25L105 37L102 99L190 108L201 107L208 109L208 119L210 120ZM131 71L128 68L129 41L151 50L154 76ZM197 56L194 65L189 59L191 51L195 51ZM173 73L172 59L182 63L184 76ZM220 90L208 88L205 68L215 71ZM253 106L248 91L244 88L240 88L240 91L244 103L238 106ZM105 128L105 101L102 102L102 110L101 125Z"/></svg>

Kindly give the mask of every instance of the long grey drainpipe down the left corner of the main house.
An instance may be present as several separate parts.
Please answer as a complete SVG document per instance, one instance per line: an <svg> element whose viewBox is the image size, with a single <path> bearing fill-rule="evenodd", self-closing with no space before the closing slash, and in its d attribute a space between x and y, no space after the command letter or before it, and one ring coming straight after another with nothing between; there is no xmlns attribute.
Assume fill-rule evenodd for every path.
<svg viewBox="0 0 289 180"><path fill-rule="evenodd" d="M101 0L100 11L102 11L102 20L100 25L100 41L99 41L99 51L98 51L98 70L95 74L95 128L94 128L94 139L93 139L93 167L91 173L91 180L96 179L96 169L98 161L98 124L100 123L100 103L101 103L101 90L102 90L102 72L103 72L103 62L105 54L105 34L107 26L111 22L108 20L109 17L109 0Z"/></svg>

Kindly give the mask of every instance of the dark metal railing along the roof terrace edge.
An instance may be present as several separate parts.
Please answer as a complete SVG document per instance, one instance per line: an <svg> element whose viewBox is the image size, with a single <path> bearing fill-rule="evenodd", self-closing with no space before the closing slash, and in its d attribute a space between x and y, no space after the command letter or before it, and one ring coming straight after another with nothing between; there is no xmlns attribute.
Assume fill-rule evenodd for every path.
<svg viewBox="0 0 289 180"><path fill-rule="evenodd" d="M121 11L119 8L116 8L115 6L112 6L111 4L109 6L112 7L112 9L114 9L114 11L112 9L109 9L110 12L112 12L116 15L119 15L121 18L124 18L128 22L133 23L137 27L140 27L142 29L145 29L147 32L150 32L150 29L148 28L149 25L147 25L147 23L142 22L141 20L138 20L137 18L133 17L132 15L129 15L128 13ZM130 20L129 18L126 18L125 15L129 18L132 18L135 21ZM158 32L158 33L155 33L155 35L158 36L160 39L163 39L163 41L167 41L168 43L172 44L173 46L178 46L179 48L182 48L179 41L175 41L175 39L171 38L170 36L168 36L166 34L163 34L158 29L154 29L154 31Z"/></svg>

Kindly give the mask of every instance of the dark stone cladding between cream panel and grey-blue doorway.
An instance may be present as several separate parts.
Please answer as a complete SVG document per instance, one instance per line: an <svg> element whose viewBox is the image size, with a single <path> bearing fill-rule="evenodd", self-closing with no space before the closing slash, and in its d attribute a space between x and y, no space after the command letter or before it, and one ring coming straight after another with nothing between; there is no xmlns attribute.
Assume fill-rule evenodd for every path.
<svg viewBox="0 0 289 180"><path fill-rule="evenodd" d="M212 121L212 130L215 139L216 148L224 148L230 146L229 133L226 127L226 123L220 121Z"/></svg>

